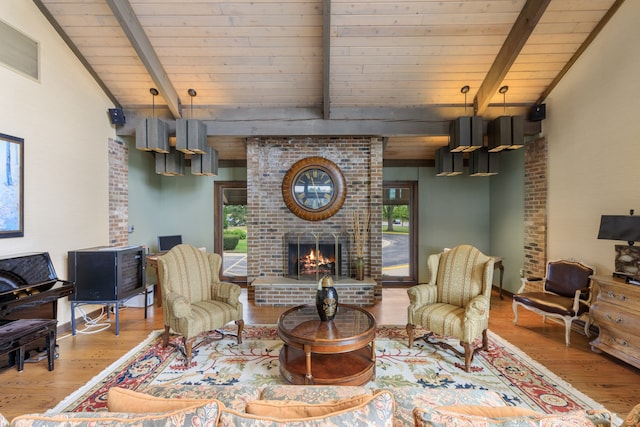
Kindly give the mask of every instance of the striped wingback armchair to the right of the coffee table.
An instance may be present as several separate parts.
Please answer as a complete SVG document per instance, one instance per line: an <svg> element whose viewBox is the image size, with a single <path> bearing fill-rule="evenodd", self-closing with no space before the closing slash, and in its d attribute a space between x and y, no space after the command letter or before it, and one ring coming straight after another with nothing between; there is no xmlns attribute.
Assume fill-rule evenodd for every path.
<svg viewBox="0 0 640 427"><path fill-rule="evenodd" d="M428 260L431 278L407 290L409 347L413 346L416 326L428 332L417 339L438 345L464 357L464 369L469 372L476 352L487 349L487 328L493 258L470 245L460 245ZM431 341L434 335L460 340L461 352L444 341ZM482 337L482 344L474 341Z"/></svg>

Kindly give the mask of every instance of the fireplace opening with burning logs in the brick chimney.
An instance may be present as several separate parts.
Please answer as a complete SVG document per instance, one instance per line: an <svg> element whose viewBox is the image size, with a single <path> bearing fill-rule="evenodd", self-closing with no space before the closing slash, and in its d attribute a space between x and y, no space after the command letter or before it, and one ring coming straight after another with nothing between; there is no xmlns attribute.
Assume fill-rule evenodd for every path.
<svg viewBox="0 0 640 427"><path fill-rule="evenodd" d="M349 274L348 237L339 234L285 235L287 276L317 280L325 275L338 279Z"/></svg>

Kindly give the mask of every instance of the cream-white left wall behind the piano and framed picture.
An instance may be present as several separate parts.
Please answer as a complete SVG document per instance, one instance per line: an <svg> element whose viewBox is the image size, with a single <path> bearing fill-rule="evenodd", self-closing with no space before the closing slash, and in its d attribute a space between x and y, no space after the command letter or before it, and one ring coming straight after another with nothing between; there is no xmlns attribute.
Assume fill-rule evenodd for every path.
<svg viewBox="0 0 640 427"><path fill-rule="evenodd" d="M109 241L108 151L113 105L31 1L2 0L0 19L40 44L40 81L0 66L0 133L24 138L24 237L0 255L67 252ZM71 318L61 300L60 323Z"/></svg>

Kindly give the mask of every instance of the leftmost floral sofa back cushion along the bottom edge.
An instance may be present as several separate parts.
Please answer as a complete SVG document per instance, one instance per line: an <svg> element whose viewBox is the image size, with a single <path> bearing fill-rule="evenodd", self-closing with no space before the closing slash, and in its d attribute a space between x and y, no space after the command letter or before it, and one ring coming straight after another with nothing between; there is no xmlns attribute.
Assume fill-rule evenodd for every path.
<svg viewBox="0 0 640 427"><path fill-rule="evenodd" d="M91 427L132 426L172 427L185 425L215 425L220 414L217 402L211 401L190 408L163 413L133 414L121 412L64 412L55 415L21 415L13 419L12 427Z"/></svg>

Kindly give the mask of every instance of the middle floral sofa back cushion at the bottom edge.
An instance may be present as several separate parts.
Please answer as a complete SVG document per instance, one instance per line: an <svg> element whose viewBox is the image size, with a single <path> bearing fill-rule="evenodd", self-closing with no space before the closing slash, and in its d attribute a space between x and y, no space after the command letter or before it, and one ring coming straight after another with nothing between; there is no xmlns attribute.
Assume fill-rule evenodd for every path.
<svg viewBox="0 0 640 427"><path fill-rule="evenodd" d="M325 416L298 418L286 421L272 417L244 414L232 410L223 410L220 413L218 426L319 427L348 425L353 427L391 427L393 425L393 406L393 395L388 391L382 391L368 398L366 402L350 409L344 409Z"/></svg>

